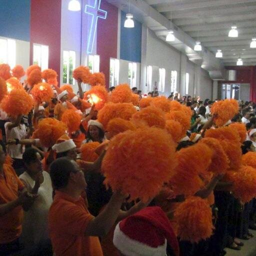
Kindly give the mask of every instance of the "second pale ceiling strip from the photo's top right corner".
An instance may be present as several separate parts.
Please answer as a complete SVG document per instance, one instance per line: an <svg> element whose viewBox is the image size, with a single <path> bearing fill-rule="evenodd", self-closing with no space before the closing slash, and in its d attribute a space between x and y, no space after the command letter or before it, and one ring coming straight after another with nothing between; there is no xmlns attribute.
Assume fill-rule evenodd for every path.
<svg viewBox="0 0 256 256"><path fill-rule="evenodd" d="M256 5L256 2L255 2ZM240 6L240 7L229 7L222 8L216 7L216 9L208 10L208 8L200 8L199 10L180 10L170 13L170 11L162 12L162 14L170 19L175 18L189 18L189 17L207 17L209 15L227 15L227 14L235 14L242 13L247 11L255 11L256 6Z"/></svg>

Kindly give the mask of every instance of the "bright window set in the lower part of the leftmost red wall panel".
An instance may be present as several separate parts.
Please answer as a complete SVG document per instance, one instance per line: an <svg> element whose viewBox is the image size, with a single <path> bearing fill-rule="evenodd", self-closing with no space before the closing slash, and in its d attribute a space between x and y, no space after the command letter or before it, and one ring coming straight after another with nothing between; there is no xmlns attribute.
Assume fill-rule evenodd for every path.
<svg viewBox="0 0 256 256"><path fill-rule="evenodd" d="M48 68L49 46L42 44L33 44L33 64L37 64L42 70Z"/></svg>

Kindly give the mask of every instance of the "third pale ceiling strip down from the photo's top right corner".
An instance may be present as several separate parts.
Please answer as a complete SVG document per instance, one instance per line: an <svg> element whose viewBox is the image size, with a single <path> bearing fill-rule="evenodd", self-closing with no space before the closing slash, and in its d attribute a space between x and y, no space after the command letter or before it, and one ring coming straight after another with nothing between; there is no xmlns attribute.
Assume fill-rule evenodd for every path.
<svg viewBox="0 0 256 256"><path fill-rule="evenodd" d="M237 22L238 20L247 20L247 19L254 19L255 20L256 14L247 13L247 14L229 14L224 16L209 16L209 17L194 17L194 18L180 18L180 19L172 19L172 22L177 26L184 26L184 25L192 25L192 24L210 24L210 23L220 23L220 22Z"/></svg>

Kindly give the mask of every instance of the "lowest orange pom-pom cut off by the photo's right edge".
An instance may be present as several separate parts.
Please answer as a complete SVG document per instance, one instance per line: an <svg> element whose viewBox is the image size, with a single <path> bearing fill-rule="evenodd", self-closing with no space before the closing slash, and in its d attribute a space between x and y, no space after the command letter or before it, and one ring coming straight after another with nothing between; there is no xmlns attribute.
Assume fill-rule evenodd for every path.
<svg viewBox="0 0 256 256"><path fill-rule="evenodd" d="M242 202L256 196L256 170L253 167L241 165L238 171L228 171L225 180L232 182L231 191Z"/></svg>

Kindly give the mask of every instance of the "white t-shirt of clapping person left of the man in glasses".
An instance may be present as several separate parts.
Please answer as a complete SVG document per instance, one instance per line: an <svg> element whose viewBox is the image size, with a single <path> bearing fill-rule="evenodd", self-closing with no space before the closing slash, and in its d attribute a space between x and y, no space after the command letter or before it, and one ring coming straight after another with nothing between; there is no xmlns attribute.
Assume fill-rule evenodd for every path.
<svg viewBox="0 0 256 256"><path fill-rule="evenodd" d="M50 175L43 171L43 182L38 189L33 205L28 211L24 212L22 224L21 240L25 245L38 243L40 240L47 239L48 236L48 211L52 203L52 186ZM35 181L25 171L20 176L27 185L28 191L31 191Z"/></svg>

